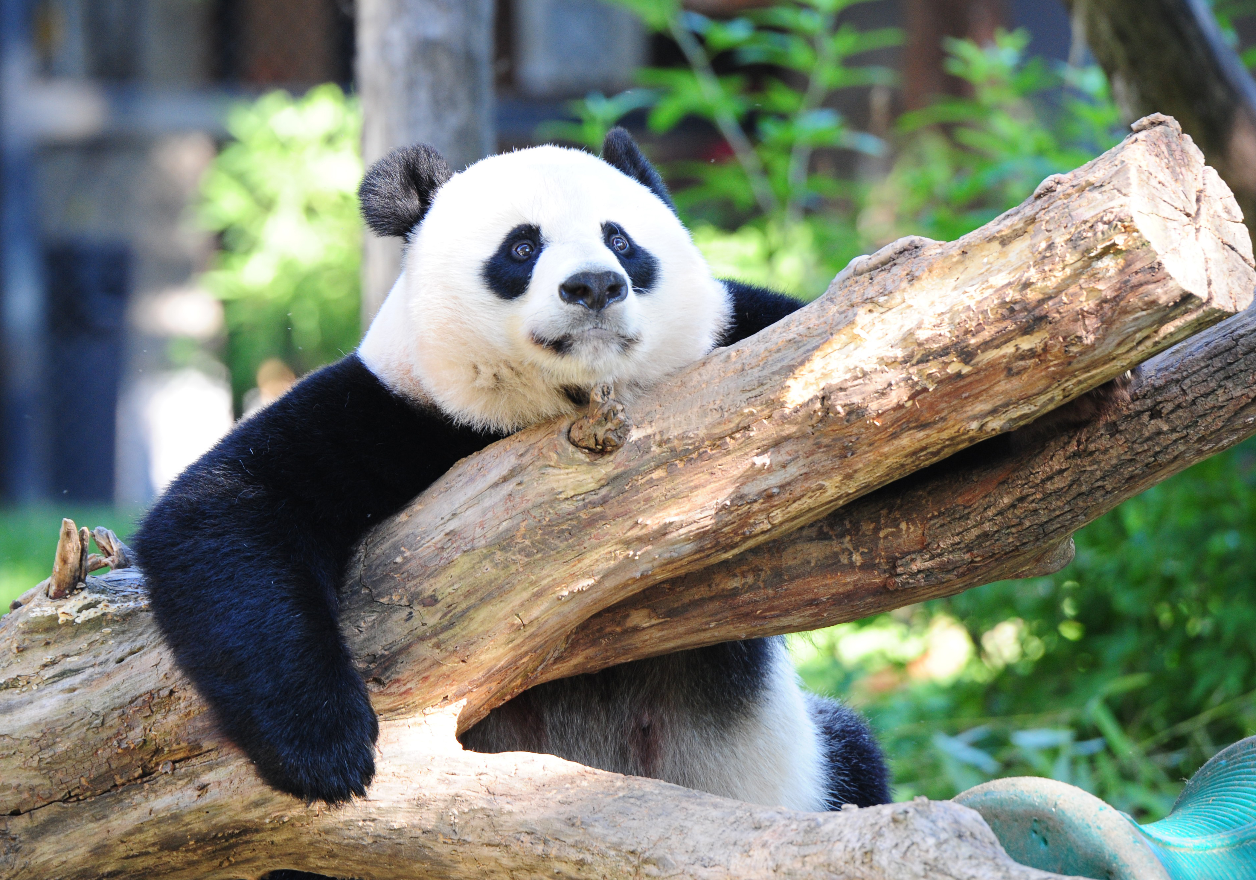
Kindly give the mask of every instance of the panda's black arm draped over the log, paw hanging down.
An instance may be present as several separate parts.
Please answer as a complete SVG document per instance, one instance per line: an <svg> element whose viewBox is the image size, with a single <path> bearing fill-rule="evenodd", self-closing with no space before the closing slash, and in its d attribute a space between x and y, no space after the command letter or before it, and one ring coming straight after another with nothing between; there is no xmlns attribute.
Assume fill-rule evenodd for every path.
<svg viewBox="0 0 1256 880"><path fill-rule="evenodd" d="M350 355L237 425L144 518L157 622L274 787L364 793L378 727L338 629L344 567L367 528L495 439L412 406Z"/></svg>

